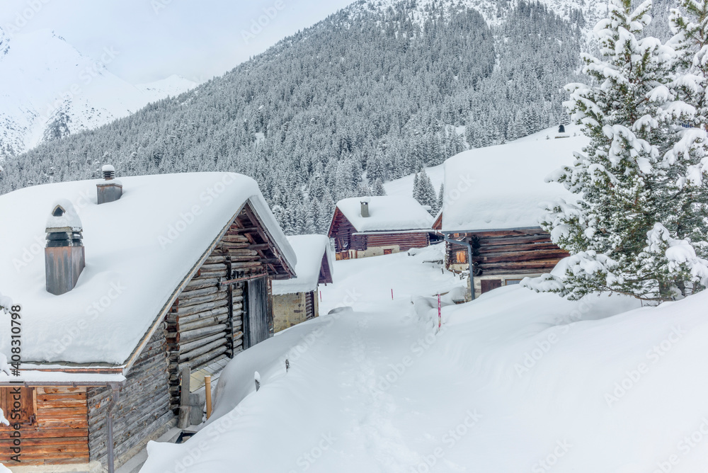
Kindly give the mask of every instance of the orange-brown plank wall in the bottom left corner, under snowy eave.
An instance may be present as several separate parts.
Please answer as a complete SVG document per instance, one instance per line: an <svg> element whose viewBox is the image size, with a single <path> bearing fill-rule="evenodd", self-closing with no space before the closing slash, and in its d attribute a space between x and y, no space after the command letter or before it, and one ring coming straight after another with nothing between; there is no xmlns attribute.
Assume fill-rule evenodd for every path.
<svg viewBox="0 0 708 473"><path fill-rule="evenodd" d="M86 387L36 387L26 391L29 399L23 397L22 401L36 401L36 417L20 431L21 465L88 463ZM14 467L17 464L10 460L10 431L10 427L0 426L0 463Z"/></svg>

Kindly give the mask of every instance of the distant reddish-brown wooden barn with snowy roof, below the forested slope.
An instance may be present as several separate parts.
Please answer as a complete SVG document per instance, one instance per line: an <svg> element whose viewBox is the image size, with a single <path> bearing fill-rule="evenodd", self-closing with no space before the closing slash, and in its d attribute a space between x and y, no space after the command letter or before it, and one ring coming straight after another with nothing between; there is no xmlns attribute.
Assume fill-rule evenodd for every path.
<svg viewBox="0 0 708 473"><path fill-rule="evenodd" d="M358 197L340 200L329 237L336 258L380 256L430 245L433 217L413 198Z"/></svg>

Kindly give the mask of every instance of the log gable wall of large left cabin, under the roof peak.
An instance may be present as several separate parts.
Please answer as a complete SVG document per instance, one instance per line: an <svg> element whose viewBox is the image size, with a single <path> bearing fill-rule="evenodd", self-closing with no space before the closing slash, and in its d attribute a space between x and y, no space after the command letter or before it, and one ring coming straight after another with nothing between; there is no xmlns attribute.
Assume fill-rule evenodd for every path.
<svg viewBox="0 0 708 473"><path fill-rule="evenodd" d="M186 285L167 315L167 342L171 409L180 404L181 372L199 370L247 348L244 327L248 324L249 281L264 278L266 329L272 333L270 279L277 262L273 243L247 205ZM260 341L260 340L258 340Z"/></svg>

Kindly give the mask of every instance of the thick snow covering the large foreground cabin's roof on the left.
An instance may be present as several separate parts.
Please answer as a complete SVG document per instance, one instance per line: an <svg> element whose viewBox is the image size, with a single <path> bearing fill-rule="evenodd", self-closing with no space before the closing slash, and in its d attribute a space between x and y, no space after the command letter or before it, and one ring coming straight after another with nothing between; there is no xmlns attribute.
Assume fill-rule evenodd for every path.
<svg viewBox="0 0 708 473"><path fill-rule="evenodd" d="M122 365L241 207L258 215L290 268L295 252L253 179L234 173L122 178L120 200L96 204L96 183L0 195L0 287L22 305L23 360ZM74 290L45 289L45 224L57 199L84 229L86 268ZM0 330L0 352L10 353Z"/></svg>

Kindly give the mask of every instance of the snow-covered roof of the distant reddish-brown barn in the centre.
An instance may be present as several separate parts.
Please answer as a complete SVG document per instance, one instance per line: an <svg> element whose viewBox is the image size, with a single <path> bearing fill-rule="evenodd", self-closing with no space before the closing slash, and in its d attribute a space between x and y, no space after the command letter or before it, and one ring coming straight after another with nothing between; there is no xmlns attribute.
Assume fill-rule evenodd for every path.
<svg viewBox="0 0 708 473"><path fill-rule="evenodd" d="M369 203L369 217L361 216L361 203ZM337 208L358 232L430 229L433 216L412 197L379 195L340 200Z"/></svg>

